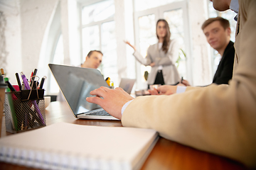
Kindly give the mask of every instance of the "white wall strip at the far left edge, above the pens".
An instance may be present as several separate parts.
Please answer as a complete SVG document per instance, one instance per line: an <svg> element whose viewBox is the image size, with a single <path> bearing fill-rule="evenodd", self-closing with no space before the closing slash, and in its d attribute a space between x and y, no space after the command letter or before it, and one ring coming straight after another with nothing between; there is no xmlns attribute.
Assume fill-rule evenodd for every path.
<svg viewBox="0 0 256 170"><path fill-rule="evenodd" d="M22 71L21 58L21 18L18 0L1 0L1 53L0 67L4 68L6 77L16 84L15 73ZM3 54L4 52L4 54Z"/></svg>

